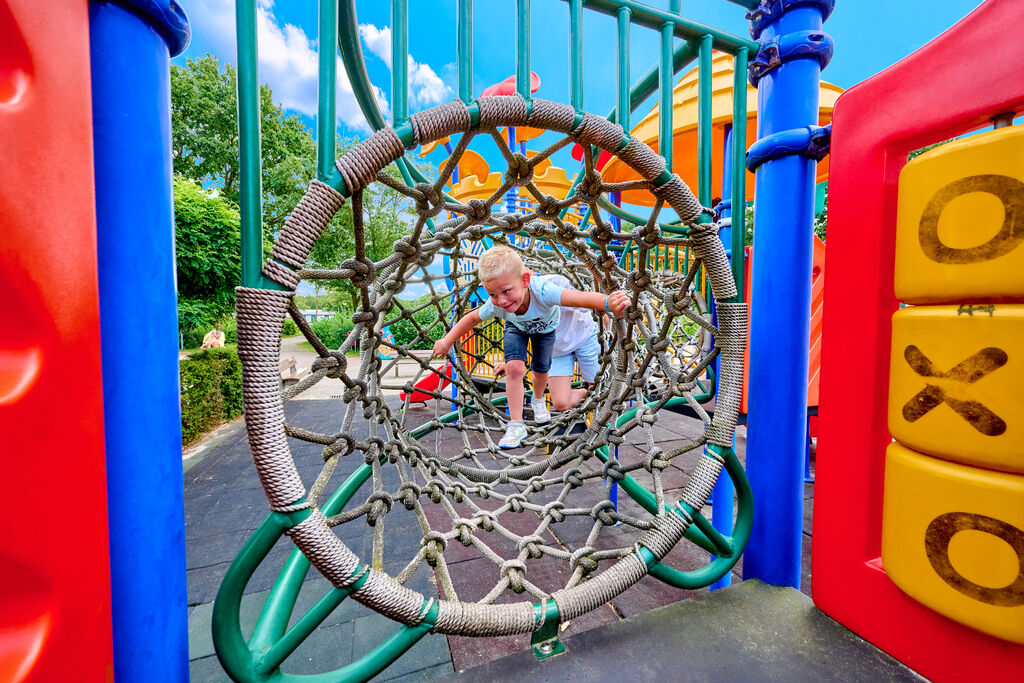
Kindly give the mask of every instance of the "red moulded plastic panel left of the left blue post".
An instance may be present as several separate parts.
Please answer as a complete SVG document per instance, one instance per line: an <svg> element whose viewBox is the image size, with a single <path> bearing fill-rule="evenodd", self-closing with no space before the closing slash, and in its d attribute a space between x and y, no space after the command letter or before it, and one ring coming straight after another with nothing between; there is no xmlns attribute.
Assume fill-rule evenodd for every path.
<svg viewBox="0 0 1024 683"><path fill-rule="evenodd" d="M88 5L0 2L0 680L113 680Z"/></svg>

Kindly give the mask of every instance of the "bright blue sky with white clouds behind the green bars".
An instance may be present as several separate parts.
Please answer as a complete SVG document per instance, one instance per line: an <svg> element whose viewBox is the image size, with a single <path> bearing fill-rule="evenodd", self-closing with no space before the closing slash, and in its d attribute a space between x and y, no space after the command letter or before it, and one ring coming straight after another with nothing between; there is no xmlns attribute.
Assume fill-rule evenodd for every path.
<svg viewBox="0 0 1024 683"><path fill-rule="evenodd" d="M180 0L188 14L193 39L174 63L206 53L236 62L234 0ZM344 2L345 0L341 0ZM256 0L260 81L274 99L302 117L312 128L316 113L316 1ZM367 71L385 117L390 117L390 2L358 0L356 13ZM410 0L410 109L452 100L458 90L456 67L457 0ZM648 2L667 8L668 0ZM836 42L831 63L822 79L849 88L925 45L968 14L980 0L838 0L825 31ZM748 36L743 9L726 0L683 0L684 15L735 35ZM515 2L476 0L474 16L474 92L515 73ZM537 95L568 100L568 10L558 0L531 2L532 70L541 77ZM614 106L615 22L584 12L584 108L607 114ZM658 37L635 27L630 40L632 79L656 63ZM941 68L941 65L936 65ZM653 101L634 114L637 122ZM352 96L344 68L338 68L338 130L346 137L371 131ZM553 138L552 138L553 139ZM474 148L477 148L474 142ZM531 145L542 148L544 142ZM495 165L497 150L479 150ZM444 159L443 148L428 159L433 168ZM568 148L552 158L566 170L579 164ZM420 292L407 292L415 296Z"/></svg>

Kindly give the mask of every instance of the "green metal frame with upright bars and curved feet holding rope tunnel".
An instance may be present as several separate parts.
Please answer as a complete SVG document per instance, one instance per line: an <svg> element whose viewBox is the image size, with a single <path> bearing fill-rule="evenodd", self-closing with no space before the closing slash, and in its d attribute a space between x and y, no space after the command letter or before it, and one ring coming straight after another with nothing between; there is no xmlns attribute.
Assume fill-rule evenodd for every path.
<svg viewBox="0 0 1024 683"><path fill-rule="evenodd" d="M757 0L728 0L733 4L748 9L757 6ZM616 25L616 93L615 106L607 118L622 124L624 135L622 146L629 141L629 127L632 113L655 91L659 91L659 153L666 159L667 170L654 184L660 185L672 177L673 152L673 85L676 75L694 59L698 65L698 182L697 197L703 205L708 205L713 197L712 167L714 163L712 152L712 50L717 49L733 55L733 154L731 160L723 163L732 165L733 217L732 217L732 269L740 292L734 301L742 296L742 254L744 234L744 198L745 198L745 150L746 139L746 62L750 54L756 53L758 44L728 33L721 32L690 22L680 14L679 0L671 0L668 11L649 7L633 0L563 0L567 4L569 16L569 92L568 100L578 113L578 123L584 113L583 87L583 11L591 10L606 14ZM530 101L530 0L515 0L515 35L516 35L516 90ZM264 289L281 289L275 283L263 278L260 269L263 263L262 254L262 204L260 188L260 140L259 140L259 84L256 60L256 9L255 0L239 0L237 3L238 49L239 49L239 134L240 134L240 171L241 171L241 215L242 215L242 284L245 287ZM341 194L350 195L340 174L335 168L336 161L336 111L335 94L337 85L336 52L338 46L342 61L345 65L349 81L356 101L359 103L367 121L375 130L385 127L386 122L373 95L373 88L367 75L362 59L357 22L355 17L354 0L321 0L319 4L319 108L317 115L317 162L316 172L321 181L335 187ZM407 145L413 141L413 131L409 123L409 74L408 74L408 0L392 0L392 128ZM658 61L635 83L631 85L630 65L630 32L634 27L655 31L660 41ZM469 108L473 126L479 123L479 109L476 104L473 82L473 2L459 0L458 2L458 75L459 97ZM677 42L679 41L679 42ZM425 181L426 178L404 158L397 162L402 178L409 184ZM582 179L582 171L573 179L573 186ZM572 191L571 189L569 191ZM621 207L603 202L601 208L635 223L644 223L646 218L633 214ZM662 229L674 233L685 234L683 225L666 222ZM621 249L625 259L630 246ZM655 264L658 255L654 255ZM668 252L664 255L668 262ZM676 269L680 268L680 254L672 256ZM684 252L682 263L688 264L689 254ZM684 267L687 267L684 265ZM710 398L710 390L708 397ZM503 400L503 399L496 399ZM683 398L672 398L665 408L685 402ZM635 411L636 409L634 409ZM465 414L465 411L464 411ZM457 419L453 413L440 419L440 423L453 422ZM623 415L618 424L633 417L628 412ZM430 427L433 429L435 427ZM416 434L416 436L423 436ZM733 480L739 508L733 535L726 537L712 527L699 511L689 509L679 504L675 514L692 517L693 524L686 532L691 542L717 556L706 567L696 571L683 572L658 562L645 548L639 553L648 566L648 570L662 581L680 588L697 588L708 586L725 575L738 559L739 553L750 537L753 522L753 503L750 484L746 481L735 454L730 449L708 446L711 457L719 458L725 463L725 469ZM599 457L607 459L606 451L600 451ZM343 509L345 504L358 490L370 476L369 465L361 466L324 505L325 514L333 514ZM622 483L627 492L642 507L650 512L656 512L653 495L644 486L627 477ZM348 667L315 676L294 676L284 674L280 670L281 663L302 642L302 639L327 617L328 614L352 592L361 586L365 579L359 579L347 589L334 589L321 600L291 628L289 620L295 607L296 598L302 581L309 569L308 560L295 551L286 562L279 581L273 589L263 611L257 622L252 636L246 641L239 624L239 609L242 594L253 571L274 542L289 528L307 517L308 510L297 513L272 513L263 525L257 529L243 548L231 568L225 577L218 592L214 607L214 632L217 641L218 654L232 677L240 680L272 680L272 681L319 681L365 680L382 671L402 652L412 647L433 625L436 606L425 603L426 617L418 627L400 627L396 633L372 652L362 656ZM557 626L557 609L553 613L553 602L535 605L539 616L548 613L549 625ZM549 629L550 631L550 629ZM554 632L557 635L557 631ZM535 637L548 638L548 632L539 633ZM552 636L553 637L553 636Z"/></svg>

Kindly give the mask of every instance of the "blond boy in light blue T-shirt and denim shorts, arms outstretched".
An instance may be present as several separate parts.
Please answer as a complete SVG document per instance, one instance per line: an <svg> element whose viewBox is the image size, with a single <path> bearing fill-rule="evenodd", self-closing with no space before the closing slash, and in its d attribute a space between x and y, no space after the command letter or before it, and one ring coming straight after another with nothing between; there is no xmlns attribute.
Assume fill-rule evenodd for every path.
<svg viewBox="0 0 1024 683"><path fill-rule="evenodd" d="M510 247L495 246L485 251L477 265L477 274L490 300L460 318L434 344L433 354L443 358L457 339L482 321L500 317L505 321L505 387L508 394L509 425L498 442L502 449L517 449L526 436L522 420L522 399L525 395L526 342L534 352L534 419L539 424L551 420L544 403L544 390L551 369L551 350L555 341L561 306L591 308L622 315L629 305L629 296L615 291L605 296L597 292L580 292L562 288L546 278L534 276L523 265L519 254Z"/></svg>

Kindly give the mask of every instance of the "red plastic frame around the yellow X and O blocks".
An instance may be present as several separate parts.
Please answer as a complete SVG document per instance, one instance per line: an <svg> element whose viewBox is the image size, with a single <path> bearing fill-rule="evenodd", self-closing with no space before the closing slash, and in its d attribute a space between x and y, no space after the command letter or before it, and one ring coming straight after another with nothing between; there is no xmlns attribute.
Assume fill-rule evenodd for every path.
<svg viewBox="0 0 1024 683"><path fill-rule="evenodd" d="M1024 647L914 601L879 560L897 181L912 150L1024 111L1022 22L1017 0L989 0L841 95L833 118L812 592L830 616L939 681L1020 680Z"/></svg>

